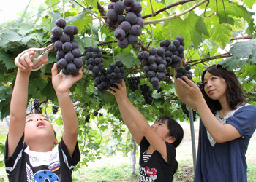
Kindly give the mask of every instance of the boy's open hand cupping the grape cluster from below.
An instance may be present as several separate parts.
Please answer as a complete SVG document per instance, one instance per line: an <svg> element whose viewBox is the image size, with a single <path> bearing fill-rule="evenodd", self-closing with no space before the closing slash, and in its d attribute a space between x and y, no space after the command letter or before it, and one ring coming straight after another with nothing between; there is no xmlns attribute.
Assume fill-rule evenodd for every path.
<svg viewBox="0 0 256 182"><path fill-rule="evenodd" d="M69 88L78 80L80 80L83 76L82 73L83 66L79 68L79 73L77 76L72 76L71 74L69 75L64 75L61 72L57 71L57 64L54 63L53 68L51 69L52 73L52 83L53 83L53 88L56 92L68 92Z"/></svg>

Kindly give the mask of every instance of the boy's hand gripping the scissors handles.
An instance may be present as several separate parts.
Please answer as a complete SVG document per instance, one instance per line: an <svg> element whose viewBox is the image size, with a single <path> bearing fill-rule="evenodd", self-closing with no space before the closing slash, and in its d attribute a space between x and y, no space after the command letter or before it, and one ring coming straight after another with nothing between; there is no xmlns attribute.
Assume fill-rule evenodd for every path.
<svg viewBox="0 0 256 182"><path fill-rule="evenodd" d="M48 59L44 58L33 66L33 60L30 59L31 55L34 55L34 51L26 52L20 57L20 61L18 60L18 56L15 58L15 65L19 68L20 71L29 72L32 68L37 68L38 66L48 62Z"/></svg>

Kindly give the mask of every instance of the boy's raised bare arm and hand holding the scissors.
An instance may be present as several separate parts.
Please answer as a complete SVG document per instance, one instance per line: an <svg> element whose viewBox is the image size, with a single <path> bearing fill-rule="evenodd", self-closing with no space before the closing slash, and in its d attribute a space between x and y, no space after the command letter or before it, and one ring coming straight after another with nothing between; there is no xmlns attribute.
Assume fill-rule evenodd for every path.
<svg viewBox="0 0 256 182"><path fill-rule="evenodd" d="M28 102L29 76L32 68L46 63L47 59L42 59L37 65L33 66L30 56L34 52L27 52L18 58L15 58L15 65L18 66L18 72L15 79L15 86L12 91L10 103L10 124L8 133L8 157L12 156L21 136L23 135L26 123L26 106Z"/></svg>

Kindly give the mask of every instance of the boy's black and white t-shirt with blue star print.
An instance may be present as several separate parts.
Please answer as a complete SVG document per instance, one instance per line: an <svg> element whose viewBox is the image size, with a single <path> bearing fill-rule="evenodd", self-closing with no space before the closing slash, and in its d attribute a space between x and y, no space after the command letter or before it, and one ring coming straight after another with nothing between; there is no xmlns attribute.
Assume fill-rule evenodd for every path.
<svg viewBox="0 0 256 182"><path fill-rule="evenodd" d="M8 138L7 138L8 141ZM4 150L4 162L9 181L72 181L72 170L80 161L78 143L73 156L70 157L67 146L61 142L52 151L30 151L24 142L24 135L11 157L8 154L8 142Z"/></svg>

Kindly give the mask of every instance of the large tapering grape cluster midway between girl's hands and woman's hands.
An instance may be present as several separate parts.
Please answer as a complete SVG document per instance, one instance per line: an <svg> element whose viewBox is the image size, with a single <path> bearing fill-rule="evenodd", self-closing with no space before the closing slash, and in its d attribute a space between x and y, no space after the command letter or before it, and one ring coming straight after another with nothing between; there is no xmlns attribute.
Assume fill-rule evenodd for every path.
<svg viewBox="0 0 256 182"><path fill-rule="evenodd" d="M149 51L139 52L138 59L141 60L144 74L153 89L159 90L161 87L159 82L165 80L165 50L162 47L159 49L151 47Z"/></svg>

